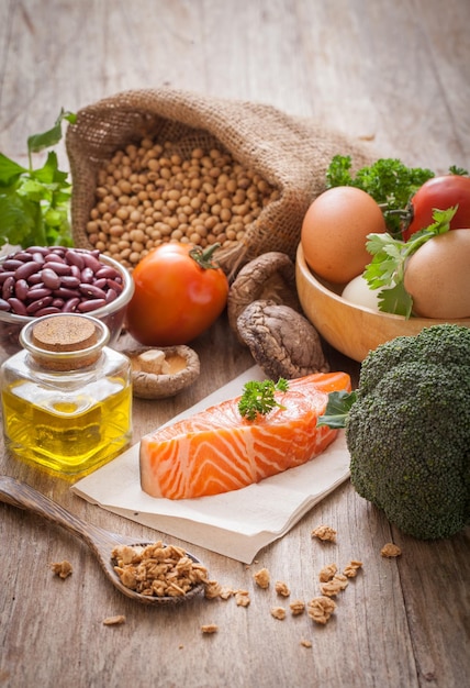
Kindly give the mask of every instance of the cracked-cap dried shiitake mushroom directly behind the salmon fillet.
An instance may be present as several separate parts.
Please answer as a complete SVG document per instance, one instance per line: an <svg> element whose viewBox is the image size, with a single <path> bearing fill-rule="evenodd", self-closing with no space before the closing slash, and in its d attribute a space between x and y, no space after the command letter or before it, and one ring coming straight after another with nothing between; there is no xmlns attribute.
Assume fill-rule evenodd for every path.
<svg viewBox="0 0 470 688"><path fill-rule="evenodd" d="M238 335L271 379L327 373L320 335L295 310L269 300L253 301L238 315Z"/></svg>

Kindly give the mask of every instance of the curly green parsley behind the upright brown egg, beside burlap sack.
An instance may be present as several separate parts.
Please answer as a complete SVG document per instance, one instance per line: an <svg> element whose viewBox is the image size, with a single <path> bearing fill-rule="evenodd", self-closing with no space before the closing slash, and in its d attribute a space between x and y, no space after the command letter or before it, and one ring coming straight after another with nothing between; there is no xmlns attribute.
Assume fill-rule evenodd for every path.
<svg viewBox="0 0 470 688"><path fill-rule="evenodd" d="M406 167L395 158L380 158L370 167L362 167L354 177L349 155L335 155L326 170L326 188L351 186L369 193L382 208L389 232L400 236L401 219L413 193L427 179L430 169Z"/></svg>

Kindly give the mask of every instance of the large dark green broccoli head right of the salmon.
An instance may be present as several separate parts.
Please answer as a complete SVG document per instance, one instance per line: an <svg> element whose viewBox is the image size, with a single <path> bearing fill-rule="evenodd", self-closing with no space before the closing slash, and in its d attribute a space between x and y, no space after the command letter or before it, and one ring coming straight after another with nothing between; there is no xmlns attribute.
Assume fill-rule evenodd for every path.
<svg viewBox="0 0 470 688"><path fill-rule="evenodd" d="M365 359L346 419L351 482L404 533L470 522L470 329L400 336Z"/></svg>

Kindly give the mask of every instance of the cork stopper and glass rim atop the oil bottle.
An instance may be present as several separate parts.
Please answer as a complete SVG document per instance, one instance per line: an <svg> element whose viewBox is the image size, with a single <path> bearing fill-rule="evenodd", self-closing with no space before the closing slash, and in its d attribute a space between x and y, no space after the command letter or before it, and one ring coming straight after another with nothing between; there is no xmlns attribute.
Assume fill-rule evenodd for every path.
<svg viewBox="0 0 470 688"><path fill-rule="evenodd" d="M103 323L78 313L44 315L20 334L20 341L37 364L57 371L92 365L108 340Z"/></svg>

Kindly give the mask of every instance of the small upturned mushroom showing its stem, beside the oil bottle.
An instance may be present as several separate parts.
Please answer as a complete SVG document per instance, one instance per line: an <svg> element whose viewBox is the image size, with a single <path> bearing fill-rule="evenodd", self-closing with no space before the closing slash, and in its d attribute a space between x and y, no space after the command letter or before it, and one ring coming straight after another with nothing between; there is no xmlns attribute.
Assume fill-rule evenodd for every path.
<svg viewBox="0 0 470 688"><path fill-rule="evenodd" d="M200 374L199 356L186 345L123 353L131 359L133 393L141 399L174 397Z"/></svg>

